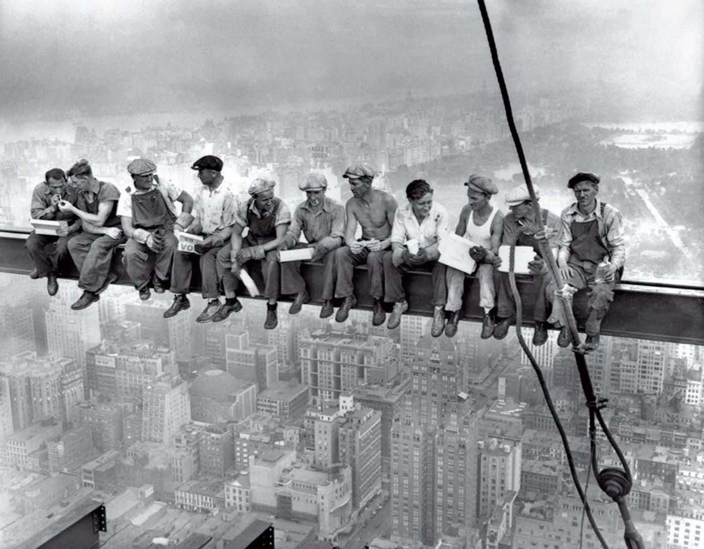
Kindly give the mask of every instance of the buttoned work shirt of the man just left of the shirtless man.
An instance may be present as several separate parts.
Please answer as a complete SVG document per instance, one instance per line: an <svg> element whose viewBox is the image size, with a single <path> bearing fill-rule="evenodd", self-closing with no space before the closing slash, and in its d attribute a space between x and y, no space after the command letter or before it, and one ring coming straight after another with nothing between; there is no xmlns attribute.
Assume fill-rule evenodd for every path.
<svg viewBox="0 0 704 549"><path fill-rule="evenodd" d="M318 211L313 211L310 209L308 200L304 200L294 210L291 226L289 226L289 230L284 236L284 242L289 247L294 247L301 238L301 231L303 231L308 244L323 242L323 246L328 252L337 248L342 239L344 239L344 206L333 199L325 197L322 201L322 208ZM340 238L341 240L336 242L335 238Z"/></svg>

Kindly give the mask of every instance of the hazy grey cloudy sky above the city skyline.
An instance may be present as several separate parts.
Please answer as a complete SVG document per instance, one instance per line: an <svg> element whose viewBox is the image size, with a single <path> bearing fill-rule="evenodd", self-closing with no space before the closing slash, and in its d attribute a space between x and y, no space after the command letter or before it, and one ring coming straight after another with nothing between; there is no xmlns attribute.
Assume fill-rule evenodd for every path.
<svg viewBox="0 0 704 549"><path fill-rule="evenodd" d="M512 91L702 97L700 0L487 4ZM0 69L15 120L496 90L472 0L2 0Z"/></svg>

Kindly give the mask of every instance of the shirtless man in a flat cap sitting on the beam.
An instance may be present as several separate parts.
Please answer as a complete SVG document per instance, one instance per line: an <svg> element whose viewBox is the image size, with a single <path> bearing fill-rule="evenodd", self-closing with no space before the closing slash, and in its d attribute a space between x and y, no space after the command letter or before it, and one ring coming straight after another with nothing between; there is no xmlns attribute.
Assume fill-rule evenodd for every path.
<svg viewBox="0 0 704 549"><path fill-rule="evenodd" d="M372 324L381 326L384 312L384 256L391 255L391 226L394 225L396 199L388 192L372 188L374 170L365 164L347 168L342 177L349 181L352 197L345 206L344 246L335 250L335 297L342 298L335 320L344 322L357 305L352 277L355 266L366 264L372 296ZM356 239L357 225L362 240Z"/></svg>

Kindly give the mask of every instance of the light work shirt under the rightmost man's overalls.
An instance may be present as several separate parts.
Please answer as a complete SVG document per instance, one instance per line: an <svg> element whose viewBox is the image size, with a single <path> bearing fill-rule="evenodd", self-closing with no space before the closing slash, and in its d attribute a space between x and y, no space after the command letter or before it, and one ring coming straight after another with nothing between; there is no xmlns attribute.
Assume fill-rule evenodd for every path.
<svg viewBox="0 0 704 549"><path fill-rule="evenodd" d="M602 206L603 204L603 206ZM603 209L603 216L601 210ZM570 245L572 245L572 223L589 223L596 219L598 226L598 238L601 244L608 250L609 261L616 269L620 269L626 262L626 242L624 240L623 216L611 204L605 204L596 200L596 208L589 214L582 214L579 211L577 202L562 210L560 236L560 251L558 259L565 264L570 259Z"/></svg>

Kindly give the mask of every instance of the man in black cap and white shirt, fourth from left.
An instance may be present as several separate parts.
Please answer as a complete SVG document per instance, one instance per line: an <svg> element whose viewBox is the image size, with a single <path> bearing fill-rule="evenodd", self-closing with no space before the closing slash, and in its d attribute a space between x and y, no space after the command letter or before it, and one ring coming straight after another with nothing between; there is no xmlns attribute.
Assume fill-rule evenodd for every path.
<svg viewBox="0 0 704 549"><path fill-rule="evenodd" d="M208 300L206 308L196 317L196 322L213 320L220 307L220 271L218 252L230 240L236 200L232 191L225 186L222 178L222 160L208 154L196 160L191 169L198 171L202 186L196 194L191 212L192 223L184 227L185 233L199 235L203 240L195 245L195 253L175 251L171 268L171 292L175 294L171 307L164 312L164 318L175 316L191 307L187 295L191 291L192 262L199 260L201 266L201 292Z"/></svg>

